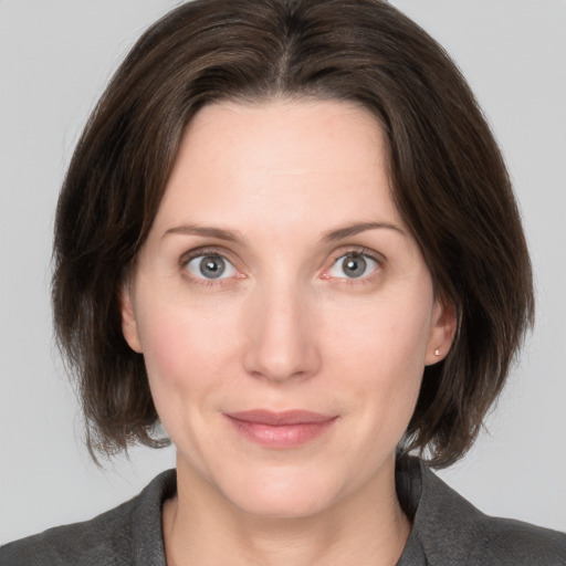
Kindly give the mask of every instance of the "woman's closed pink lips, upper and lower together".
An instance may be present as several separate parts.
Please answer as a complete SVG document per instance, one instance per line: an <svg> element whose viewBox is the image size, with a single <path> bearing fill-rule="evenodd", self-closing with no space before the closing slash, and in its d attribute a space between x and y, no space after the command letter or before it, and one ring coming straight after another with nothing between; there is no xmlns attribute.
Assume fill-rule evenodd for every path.
<svg viewBox="0 0 566 566"><path fill-rule="evenodd" d="M321 437L337 416L304 410L274 412L264 409L227 413L245 439L269 448L295 448Z"/></svg>

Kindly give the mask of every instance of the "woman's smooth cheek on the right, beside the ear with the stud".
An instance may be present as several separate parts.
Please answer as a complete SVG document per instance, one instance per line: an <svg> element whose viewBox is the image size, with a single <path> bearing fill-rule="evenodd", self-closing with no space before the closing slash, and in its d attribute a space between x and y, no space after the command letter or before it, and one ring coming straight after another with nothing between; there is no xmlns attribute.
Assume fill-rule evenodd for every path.
<svg viewBox="0 0 566 566"><path fill-rule="evenodd" d="M361 410L368 427L400 436L415 410L430 317L427 307L387 301L326 322L327 363L335 388ZM348 376L344 379L344 376ZM398 439L396 439L397 441Z"/></svg>

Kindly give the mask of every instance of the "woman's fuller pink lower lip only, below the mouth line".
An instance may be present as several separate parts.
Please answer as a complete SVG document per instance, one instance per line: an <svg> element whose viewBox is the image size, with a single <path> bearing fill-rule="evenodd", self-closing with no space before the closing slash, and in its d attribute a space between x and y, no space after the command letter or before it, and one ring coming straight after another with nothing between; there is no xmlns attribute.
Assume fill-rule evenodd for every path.
<svg viewBox="0 0 566 566"><path fill-rule="evenodd" d="M228 416L227 416L228 417ZM296 448L322 437L335 422L336 417L324 422L296 424L265 424L228 417L235 430L245 439L268 448Z"/></svg>

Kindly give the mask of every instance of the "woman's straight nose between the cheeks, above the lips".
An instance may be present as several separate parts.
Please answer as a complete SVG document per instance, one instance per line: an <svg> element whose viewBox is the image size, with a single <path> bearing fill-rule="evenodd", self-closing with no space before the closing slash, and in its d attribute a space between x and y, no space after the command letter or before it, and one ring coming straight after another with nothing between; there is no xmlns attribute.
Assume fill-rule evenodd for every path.
<svg viewBox="0 0 566 566"><path fill-rule="evenodd" d="M273 382L316 374L321 356L313 332L312 300L290 284L259 290L250 301L245 370Z"/></svg>

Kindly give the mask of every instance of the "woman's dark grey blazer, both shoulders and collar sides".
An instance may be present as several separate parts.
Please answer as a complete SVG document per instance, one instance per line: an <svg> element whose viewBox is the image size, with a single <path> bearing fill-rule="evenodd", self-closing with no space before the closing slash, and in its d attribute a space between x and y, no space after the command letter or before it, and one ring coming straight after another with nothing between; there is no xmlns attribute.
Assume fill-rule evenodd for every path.
<svg viewBox="0 0 566 566"><path fill-rule="evenodd" d="M418 459L401 460L396 480L412 518L397 566L566 566L566 534L484 515ZM0 547L0 565L166 566L161 504L175 490L175 470L169 470L92 521Z"/></svg>

